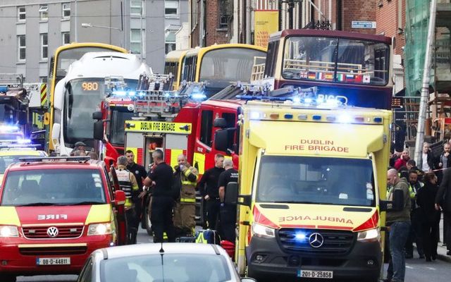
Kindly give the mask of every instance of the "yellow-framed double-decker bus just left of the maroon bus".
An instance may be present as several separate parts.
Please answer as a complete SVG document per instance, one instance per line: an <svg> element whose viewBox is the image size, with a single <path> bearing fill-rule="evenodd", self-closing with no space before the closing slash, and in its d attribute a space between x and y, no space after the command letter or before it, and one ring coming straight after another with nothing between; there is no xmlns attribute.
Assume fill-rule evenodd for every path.
<svg viewBox="0 0 451 282"><path fill-rule="evenodd" d="M204 82L203 99L223 90L230 82L250 82L255 57L266 48L250 44L215 44L186 51L178 81Z"/></svg>

